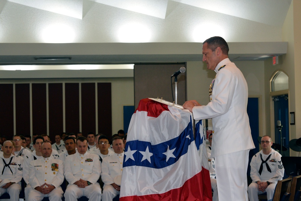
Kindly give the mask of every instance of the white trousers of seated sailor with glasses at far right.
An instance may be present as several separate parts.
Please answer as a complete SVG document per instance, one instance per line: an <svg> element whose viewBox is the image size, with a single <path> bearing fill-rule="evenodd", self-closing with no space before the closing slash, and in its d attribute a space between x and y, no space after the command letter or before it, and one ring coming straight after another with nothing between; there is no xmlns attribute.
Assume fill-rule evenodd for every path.
<svg viewBox="0 0 301 201"><path fill-rule="evenodd" d="M275 188L276 188L276 183L271 183L265 189L268 200L273 198ZM252 182L248 187L249 200L250 201L258 201L258 195L265 193L265 192L259 191L258 184L256 184L255 182Z"/></svg>

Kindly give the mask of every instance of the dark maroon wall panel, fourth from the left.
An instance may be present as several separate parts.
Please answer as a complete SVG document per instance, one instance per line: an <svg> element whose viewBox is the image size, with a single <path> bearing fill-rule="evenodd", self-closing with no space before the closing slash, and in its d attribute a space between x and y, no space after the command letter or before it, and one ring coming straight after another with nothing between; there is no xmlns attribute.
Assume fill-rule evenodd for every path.
<svg viewBox="0 0 301 201"><path fill-rule="evenodd" d="M63 83L48 84L49 136L52 143L54 137L61 135L63 127Z"/></svg>

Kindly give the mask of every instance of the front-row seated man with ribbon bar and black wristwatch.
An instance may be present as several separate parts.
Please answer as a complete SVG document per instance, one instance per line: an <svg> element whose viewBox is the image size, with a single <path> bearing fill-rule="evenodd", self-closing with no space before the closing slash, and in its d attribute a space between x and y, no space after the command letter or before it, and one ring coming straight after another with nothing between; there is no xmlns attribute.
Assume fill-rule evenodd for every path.
<svg viewBox="0 0 301 201"><path fill-rule="evenodd" d="M87 152L85 137L76 140L77 153L68 155L65 161L65 178L69 182L64 194L66 201L74 201L82 196L90 201L101 200L101 188L97 182L101 173L99 158Z"/></svg>

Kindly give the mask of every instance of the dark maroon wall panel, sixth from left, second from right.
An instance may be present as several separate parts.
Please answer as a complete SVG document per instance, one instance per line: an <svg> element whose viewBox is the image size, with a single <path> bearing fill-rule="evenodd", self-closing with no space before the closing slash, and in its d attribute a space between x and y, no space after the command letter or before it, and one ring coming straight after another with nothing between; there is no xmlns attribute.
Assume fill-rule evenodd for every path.
<svg viewBox="0 0 301 201"><path fill-rule="evenodd" d="M81 83L81 88L82 133L86 136L88 132L96 132L95 83Z"/></svg>

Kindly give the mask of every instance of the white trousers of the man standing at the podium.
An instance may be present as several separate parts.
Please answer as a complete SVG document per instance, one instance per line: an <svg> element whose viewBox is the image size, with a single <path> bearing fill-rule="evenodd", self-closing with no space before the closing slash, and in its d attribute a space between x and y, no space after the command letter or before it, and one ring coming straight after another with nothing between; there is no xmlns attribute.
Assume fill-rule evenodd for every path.
<svg viewBox="0 0 301 201"><path fill-rule="evenodd" d="M219 201L248 201L249 151L244 150L215 157Z"/></svg>

